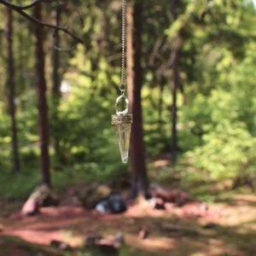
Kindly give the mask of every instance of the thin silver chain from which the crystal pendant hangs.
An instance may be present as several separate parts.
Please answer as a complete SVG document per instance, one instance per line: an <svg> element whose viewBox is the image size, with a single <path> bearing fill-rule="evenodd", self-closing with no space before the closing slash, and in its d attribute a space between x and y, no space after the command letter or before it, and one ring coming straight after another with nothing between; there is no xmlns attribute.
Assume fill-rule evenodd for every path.
<svg viewBox="0 0 256 256"><path fill-rule="evenodd" d="M125 30L126 30L126 0L122 0L122 65L121 65L121 84L119 90L125 95Z"/></svg>

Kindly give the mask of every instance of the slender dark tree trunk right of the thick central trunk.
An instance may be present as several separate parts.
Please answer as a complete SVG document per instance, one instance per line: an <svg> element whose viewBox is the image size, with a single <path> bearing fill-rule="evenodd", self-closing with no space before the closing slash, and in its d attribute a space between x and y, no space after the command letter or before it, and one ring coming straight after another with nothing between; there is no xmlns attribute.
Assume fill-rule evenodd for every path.
<svg viewBox="0 0 256 256"><path fill-rule="evenodd" d="M177 0L171 0L171 10L173 20L177 20ZM175 162L177 158L177 89L179 83L178 76L178 63L179 53L181 47L181 39L179 32L177 32L177 38L172 43L172 143L171 143L171 154L172 161Z"/></svg>

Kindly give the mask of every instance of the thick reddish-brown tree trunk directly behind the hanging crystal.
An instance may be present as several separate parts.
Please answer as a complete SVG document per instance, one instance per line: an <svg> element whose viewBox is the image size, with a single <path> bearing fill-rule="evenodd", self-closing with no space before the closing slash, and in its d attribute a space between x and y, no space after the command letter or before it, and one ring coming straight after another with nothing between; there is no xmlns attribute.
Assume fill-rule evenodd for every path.
<svg viewBox="0 0 256 256"><path fill-rule="evenodd" d="M127 82L130 109L133 113L131 129L131 196L146 195L148 177L144 157L143 113L141 89L143 83L142 55L143 4L134 3L127 6Z"/></svg>

